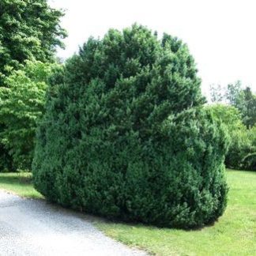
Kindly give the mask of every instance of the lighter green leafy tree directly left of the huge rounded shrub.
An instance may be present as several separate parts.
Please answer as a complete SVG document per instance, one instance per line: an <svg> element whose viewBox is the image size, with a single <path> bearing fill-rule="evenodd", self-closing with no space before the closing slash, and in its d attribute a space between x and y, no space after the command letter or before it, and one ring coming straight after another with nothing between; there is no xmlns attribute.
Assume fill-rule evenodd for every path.
<svg viewBox="0 0 256 256"><path fill-rule="evenodd" d="M0 136L13 157L16 168L31 168L36 125L42 117L47 78L56 64L25 62L22 70L13 70L0 87Z"/></svg>

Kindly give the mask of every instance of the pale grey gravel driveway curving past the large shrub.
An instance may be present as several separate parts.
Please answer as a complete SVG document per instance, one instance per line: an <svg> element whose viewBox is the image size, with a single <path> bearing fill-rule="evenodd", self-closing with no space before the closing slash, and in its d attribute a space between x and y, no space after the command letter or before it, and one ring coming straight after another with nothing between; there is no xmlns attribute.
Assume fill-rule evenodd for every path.
<svg viewBox="0 0 256 256"><path fill-rule="evenodd" d="M0 255L145 255L108 238L87 218L0 190Z"/></svg>

